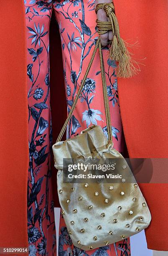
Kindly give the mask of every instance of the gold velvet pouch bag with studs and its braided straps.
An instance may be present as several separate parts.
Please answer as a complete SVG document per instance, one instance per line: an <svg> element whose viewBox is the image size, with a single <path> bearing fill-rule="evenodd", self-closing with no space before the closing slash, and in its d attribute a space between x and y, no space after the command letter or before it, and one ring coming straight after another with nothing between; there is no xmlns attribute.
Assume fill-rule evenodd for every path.
<svg viewBox="0 0 168 256"><path fill-rule="evenodd" d="M92 125L80 135L61 141L62 135L72 116L76 102L81 94L85 80L99 47L101 64L104 108L106 114L108 138L99 125ZM111 159L120 173L132 175L130 167L123 156L113 148L112 128L107 96L107 85L100 39L97 40L87 72L72 105L71 111L53 145L57 186L61 212L73 244L83 250L92 250L128 238L150 224L151 215L145 198L136 181L131 183L70 183L63 182L64 172L68 168L64 159L72 159L72 163L87 164L88 159ZM93 172L92 172L93 173ZM89 174L89 170L85 174Z"/></svg>

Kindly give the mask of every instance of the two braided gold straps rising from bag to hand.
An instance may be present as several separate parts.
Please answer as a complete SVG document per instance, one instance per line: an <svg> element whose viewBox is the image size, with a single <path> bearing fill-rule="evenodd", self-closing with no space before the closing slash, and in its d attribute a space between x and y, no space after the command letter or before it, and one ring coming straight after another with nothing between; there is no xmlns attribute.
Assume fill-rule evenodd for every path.
<svg viewBox="0 0 168 256"><path fill-rule="evenodd" d="M76 107L76 103L79 99L79 96L81 95L81 91L84 87L84 84L86 82L86 79L87 79L87 76L88 76L88 73L89 73L89 70L91 68L91 65L93 63L93 60L94 60L94 56L96 55L96 51L99 47L99 56L100 56L100 68L101 68L101 75L102 75L102 87L103 87L103 98L104 98L104 108L105 108L105 115L106 115L106 123L107 123L107 133L108 133L108 136L109 136L109 140L112 141L112 128L111 128L111 118L110 118L110 111L109 111L109 101L108 101L108 95L107 95L107 85L106 85L106 77L105 77L105 71L104 71L104 61L103 61L103 56L102 56L102 47L101 47L101 43L100 43L100 38L97 39L97 42L96 42L96 45L94 47L94 51L92 53L92 57L89 61L89 65L87 67L87 71L84 75L84 79L82 80L81 82L81 86L79 87L79 90L78 90L78 93L76 94L76 97L75 97L75 100L74 100L74 103L71 107L71 110L69 112L69 115L68 117L66 118L66 121L61 129L61 132L59 133L59 136L56 140L56 142L58 141L61 141L61 138L66 130L66 126L68 125L69 123L69 120L71 119L72 117L72 113Z"/></svg>

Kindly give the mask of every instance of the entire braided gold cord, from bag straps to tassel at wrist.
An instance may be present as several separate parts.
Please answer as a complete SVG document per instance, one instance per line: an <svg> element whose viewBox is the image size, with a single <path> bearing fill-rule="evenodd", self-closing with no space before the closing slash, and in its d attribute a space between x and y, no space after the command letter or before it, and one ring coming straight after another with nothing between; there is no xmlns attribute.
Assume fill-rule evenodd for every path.
<svg viewBox="0 0 168 256"><path fill-rule="evenodd" d="M111 51L111 56L115 57L114 59L119 62L118 69L117 69L117 76L118 77L131 77L132 74L137 73L139 71L133 66L134 60L131 60L131 57L129 55L129 52L126 49L126 46L124 44L124 41L120 37L120 28L117 21L117 18L115 16L115 7L113 3L102 3L98 4L96 6L96 13L99 9L103 9L109 17L110 21L100 21L96 20L97 22L97 32L99 34L107 33L109 30L112 30L114 35L114 40L112 41L113 50ZM100 67L101 67L101 76L102 76L102 89L103 89L103 99L104 99L104 109L105 109L105 115L106 115L106 123L107 123L107 133L109 141L112 141L112 126L111 126L111 116L110 116L110 110L109 110L109 100L107 95L107 84L106 84L106 75L104 70L104 61L102 56L102 48L100 43L100 38L97 39L97 42L94 47L94 51L92 53L92 57L89 61L89 65L87 67L86 73L84 75L84 79L81 82L81 86L79 87L79 90L76 94L76 97L74 99L74 103L71 107L71 110L69 112L68 117L66 118L66 121L61 129L61 132L59 133L59 136L56 140L56 142L61 141L61 138L66 130L66 127L69 123L69 120L72 117L72 113L76 107L77 101L81 95L81 91L84 87L84 84L86 82L87 76L89 74L89 70L92 66L94 57L96 55L96 51L99 48L99 57L100 57ZM55 163L54 158L54 163Z"/></svg>

